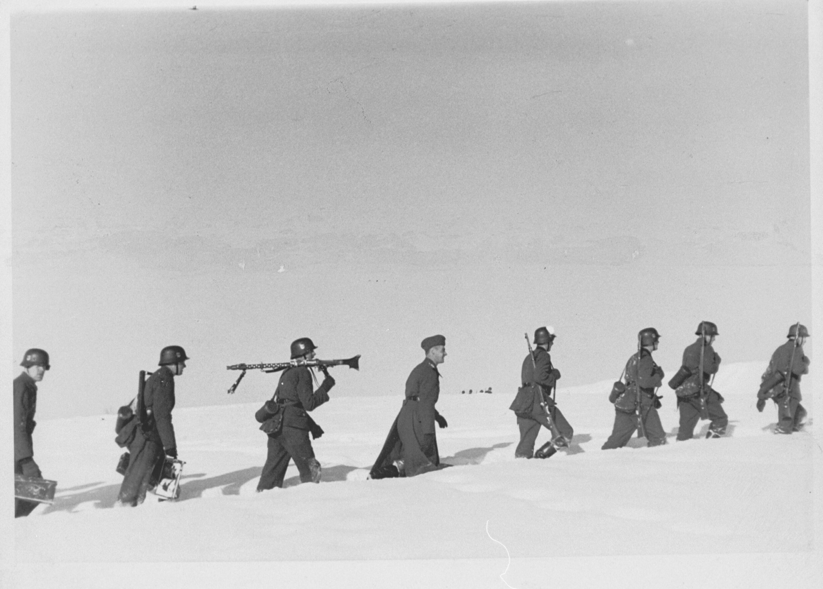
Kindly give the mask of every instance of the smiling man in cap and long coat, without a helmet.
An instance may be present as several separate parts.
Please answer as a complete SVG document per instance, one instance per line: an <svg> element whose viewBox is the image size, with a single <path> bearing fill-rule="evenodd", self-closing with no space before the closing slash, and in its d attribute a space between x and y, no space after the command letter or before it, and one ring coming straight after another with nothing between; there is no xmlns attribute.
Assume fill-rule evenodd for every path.
<svg viewBox="0 0 823 589"><path fill-rule="evenodd" d="M446 357L446 339L432 335L421 342L421 348L425 358L406 380L406 398L374 462L372 479L415 476L439 468L435 423L440 428L449 425L435 409L440 395L437 366Z"/></svg>

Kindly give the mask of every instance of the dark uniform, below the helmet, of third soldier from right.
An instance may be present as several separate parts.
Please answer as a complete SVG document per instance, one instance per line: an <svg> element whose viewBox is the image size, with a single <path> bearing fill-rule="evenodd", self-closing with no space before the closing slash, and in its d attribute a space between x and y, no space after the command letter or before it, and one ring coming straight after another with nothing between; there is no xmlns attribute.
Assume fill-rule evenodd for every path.
<svg viewBox="0 0 823 589"><path fill-rule="evenodd" d="M626 391L624 395L639 394L640 414L643 419L644 431L649 446L660 446L666 443L666 432L660 423L658 410L654 407L657 395L654 390L663 383L663 368L659 367L652 358L652 353L646 348L639 354L632 354L625 365ZM615 423L611 436L602 446L602 450L621 448L629 443L632 434L638 427L637 414L634 410L624 410L615 406Z"/></svg>

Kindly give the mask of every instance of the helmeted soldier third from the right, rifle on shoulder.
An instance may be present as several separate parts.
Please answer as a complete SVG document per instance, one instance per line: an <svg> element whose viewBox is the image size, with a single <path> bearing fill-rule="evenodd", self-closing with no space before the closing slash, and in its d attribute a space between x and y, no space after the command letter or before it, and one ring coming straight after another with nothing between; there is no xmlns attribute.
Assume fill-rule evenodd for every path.
<svg viewBox="0 0 823 589"><path fill-rule="evenodd" d="M666 443L666 432L660 423L660 400L655 390L663 383L663 368L654 363L652 352L658 348L660 334L653 327L637 334L638 351L625 365L625 386L611 391L609 400L615 405L615 424L602 450L621 448L629 443L635 429L649 441L649 446Z"/></svg>

